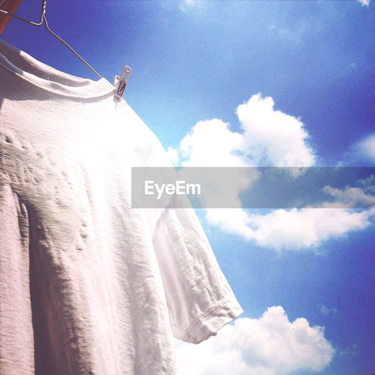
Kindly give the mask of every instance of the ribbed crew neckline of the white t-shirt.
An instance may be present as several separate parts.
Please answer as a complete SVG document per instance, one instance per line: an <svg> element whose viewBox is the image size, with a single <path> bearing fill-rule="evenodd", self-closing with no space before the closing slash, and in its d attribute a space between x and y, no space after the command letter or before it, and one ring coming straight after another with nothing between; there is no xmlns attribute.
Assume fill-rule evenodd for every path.
<svg viewBox="0 0 375 375"><path fill-rule="evenodd" d="M104 77L98 81L76 77L46 65L0 39L0 65L42 90L73 98L96 98L113 93Z"/></svg>

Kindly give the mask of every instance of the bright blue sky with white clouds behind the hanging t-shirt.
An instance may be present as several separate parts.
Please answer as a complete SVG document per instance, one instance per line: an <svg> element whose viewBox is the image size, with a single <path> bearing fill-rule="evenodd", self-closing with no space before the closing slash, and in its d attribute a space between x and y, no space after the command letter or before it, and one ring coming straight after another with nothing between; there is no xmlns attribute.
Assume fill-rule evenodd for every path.
<svg viewBox="0 0 375 375"><path fill-rule="evenodd" d="M46 17L108 81L132 68L124 99L176 165L375 166L373 1L55 0ZM98 79L43 27L1 38ZM349 208L197 210L245 312L177 343L181 374L374 374L375 208Z"/></svg>

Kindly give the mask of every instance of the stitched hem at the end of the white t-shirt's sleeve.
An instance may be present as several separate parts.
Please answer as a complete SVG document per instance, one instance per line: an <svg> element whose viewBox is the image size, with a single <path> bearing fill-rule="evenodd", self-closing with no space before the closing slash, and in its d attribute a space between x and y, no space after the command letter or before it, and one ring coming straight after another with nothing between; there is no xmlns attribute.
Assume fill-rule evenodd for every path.
<svg viewBox="0 0 375 375"><path fill-rule="evenodd" d="M213 306L206 314L202 315L185 332L182 340L199 344L211 336L216 336L216 332L243 313L243 309L236 297L232 294L226 297L217 305Z"/></svg>

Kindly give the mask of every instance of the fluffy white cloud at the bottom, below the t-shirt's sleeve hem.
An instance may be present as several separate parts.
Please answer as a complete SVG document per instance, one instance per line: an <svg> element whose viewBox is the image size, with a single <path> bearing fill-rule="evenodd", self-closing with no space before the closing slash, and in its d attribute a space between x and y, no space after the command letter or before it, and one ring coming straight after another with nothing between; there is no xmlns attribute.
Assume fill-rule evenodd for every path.
<svg viewBox="0 0 375 375"><path fill-rule="evenodd" d="M324 329L291 323L281 306L259 319L238 318L198 345L176 340L181 375L284 375L322 371L335 353Z"/></svg>

